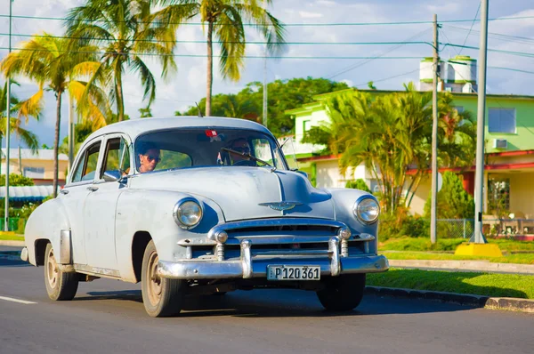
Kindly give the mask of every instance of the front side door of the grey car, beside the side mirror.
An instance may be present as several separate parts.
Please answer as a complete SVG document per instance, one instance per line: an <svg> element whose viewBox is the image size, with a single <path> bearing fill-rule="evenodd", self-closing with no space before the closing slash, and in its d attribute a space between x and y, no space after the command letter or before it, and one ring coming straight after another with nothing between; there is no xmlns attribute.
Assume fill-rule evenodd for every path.
<svg viewBox="0 0 534 354"><path fill-rule="evenodd" d="M104 173L120 177L131 164L130 143L125 135L109 134L103 141L103 156L97 178L85 198L85 253L88 264L103 270L117 270L115 221L117 200L127 189L124 181L110 181ZM111 275L119 276L117 273Z"/></svg>

